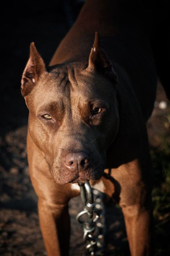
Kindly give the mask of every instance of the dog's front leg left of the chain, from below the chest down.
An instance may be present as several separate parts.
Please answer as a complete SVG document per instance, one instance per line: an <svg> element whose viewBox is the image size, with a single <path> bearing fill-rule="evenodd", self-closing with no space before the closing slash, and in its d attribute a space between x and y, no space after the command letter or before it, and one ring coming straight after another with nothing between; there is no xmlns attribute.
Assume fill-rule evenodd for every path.
<svg viewBox="0 0 170 256"><path fill-rule="evenodd" d="M68 205L38 200L38 213L48 256L69 255L70 216Z"/></svg>

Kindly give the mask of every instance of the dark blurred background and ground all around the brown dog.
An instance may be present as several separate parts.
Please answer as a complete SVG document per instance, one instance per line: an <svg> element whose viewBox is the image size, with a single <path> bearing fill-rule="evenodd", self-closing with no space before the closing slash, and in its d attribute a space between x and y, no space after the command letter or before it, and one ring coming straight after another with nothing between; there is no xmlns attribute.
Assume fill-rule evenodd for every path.
<svg viewBox="0 0 170 256"><path fill-rule="evenodd" d="M152 47L159 81L169 96L169 18L166 1L142 1L153 19ZM5 2L1 8L0 82L0 255L46 255L38 223L37 197L30 183L26 134L28 109L20 94L20 79L29 56L30 42L48 64L58 44L74 23L83 0L48 3ZM168 61L168 62L167 62ZM147 123L154 167L152 200L155 255L170 255L170 104L158 82L155 108ZM110 207L110 204L112 207ZM121 210L106 206L108 224L105 255L129 255ZM70 202L70 255L85 255L82 228L75 216L80 198ZM114 220L112 220L114 216ZM112 252L110 252L112 251Z"/></svg>

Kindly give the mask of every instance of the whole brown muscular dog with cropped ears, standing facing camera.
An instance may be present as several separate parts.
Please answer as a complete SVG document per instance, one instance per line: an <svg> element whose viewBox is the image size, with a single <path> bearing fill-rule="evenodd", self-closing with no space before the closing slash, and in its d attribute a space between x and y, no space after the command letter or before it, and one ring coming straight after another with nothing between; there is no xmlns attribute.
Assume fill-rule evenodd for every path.
<svg viewBox="0 0 170 256"><path fill-rule="evenodd" d="M48 68L30 45L22 95L29 108L29 170L48 256L68 255L68 202L79 194L72 183L89 180L121 206L131 255L152 254L145 122L156 74L143 16L122 6L88 0ZM109 57L98 33L93 43L95 31Z"/></svg>

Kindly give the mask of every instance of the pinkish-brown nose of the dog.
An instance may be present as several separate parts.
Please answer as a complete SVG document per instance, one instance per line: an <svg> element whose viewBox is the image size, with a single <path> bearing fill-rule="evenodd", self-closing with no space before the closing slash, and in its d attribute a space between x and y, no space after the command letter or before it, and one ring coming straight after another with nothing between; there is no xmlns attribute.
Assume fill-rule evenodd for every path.
<svg viewBox="0 0 170 256"><path fill-rule="evenodd" d="M69 153L65 156L65 167L72 172L85 170L89 165L89 159L85 152Z"/></svg>

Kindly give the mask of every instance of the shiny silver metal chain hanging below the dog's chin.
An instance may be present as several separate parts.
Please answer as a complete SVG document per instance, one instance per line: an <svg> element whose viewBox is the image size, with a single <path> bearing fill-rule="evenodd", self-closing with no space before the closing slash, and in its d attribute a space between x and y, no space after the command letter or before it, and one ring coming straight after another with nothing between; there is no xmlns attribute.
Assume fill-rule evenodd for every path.
<svg viewBox="0 0 170 256"><path fill-rule="evenodd" d="M78 183L80 186L80 196L84 205L76 220L83 225L84 242L86 242L86 250L88 255L103 256L103 224L104 217L102 214L103 205L98 190L94 190L96 200L94 202L93 191L89 182ZM96 238L94 237L96 233Z"/></svg>

